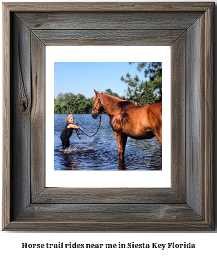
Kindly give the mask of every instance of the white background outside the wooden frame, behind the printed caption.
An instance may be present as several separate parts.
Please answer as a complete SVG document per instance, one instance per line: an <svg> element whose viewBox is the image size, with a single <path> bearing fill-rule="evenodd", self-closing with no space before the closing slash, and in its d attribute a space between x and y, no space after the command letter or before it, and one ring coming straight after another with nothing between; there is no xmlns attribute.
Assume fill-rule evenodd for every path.
<svg viewBox="0 0 217 256"><path fill-rule="evenodd" d="M10 2L10 1L4 1ZM18 2L18 1L13 1ZM28 2L28 1L23 1ZM45 1L38 1L38 2L45 2ZM58 2L55 0L46 1L46 2ZM61 1L59 1L61 2ZM68 2L64 0L64 2ZM71 1L73 2L73 1ZM86 2L90 2L86 0ZM97 1L95 1L97 2ZM101 1L102 2L102 1ZM128 2L119 1L119 2ZM133 2L133 1L129 1ZM139 2L134 1L134 2ZM149 1L150 2L150 1ZM152 1L155 2L155 1ZM156 2L162 2L157 0ZM179 2L179 1L168 1L168 2ZM185 1L188 2L188 1ZM190 2L199 2L193 1ZM200 1L201 2L201 1ZM217 1L215 0L215 4ZM2 15L2 12L1 12ZM216 16L216 7L215 7L215 16ZM216 16L217 17L217 16ZM0 17L0 20L2 18ZM0 26L2 29L2 26ZM215 21L215 49L216 49L216 21ZM0 51L1 54L2 51ZM215 51L215 67L216 67L216 51ZM2 58L1 58L2 59ZM1 76L2 76L2 69L0 69ZM215 70L215 73L216 70ZM1 80L2 81L2 80ZM215 74L215 81L216 81L216 74ZM216 90L214 92L214 97L216 97ZM216 101L216 100L215 100ZM215 102L214 101L214 102ZM2 119L2 104L0 104L0 114ZM214 106L216 110L216 103ZM216 120L216 111L215 111L215 120ZM2 131L2 122L0 122L1 127L0 131ZM214 123L216 127L216 121ZM2 147L0 147L0 159L2 162ZM216 142L215 142L215 149L216 149ZM216 152L216 150L215 150ZM216 155L216 153L215 153ZM214 159L216 157L214 156ZM1 165L2 166L2 165ZM216 172L216 163L214 164L214 170ZM2 176L0 176L2 178ZM217 185L216 175L215 175L215 185ZM2 185L2 180L0 180L0 185ZM216 186L215 186L216 187ZM215 188L215 195L217 189ZM0 190L1 198L2 198L2 191ZM216 218L216 197L215 197L215 219ZM2 212L1 212L2 213ZM0 214L1 214L0 213ZM217 228L217 226L216 226ZM52 253L52 255L151 255L153 253L158 253L158 255L193 255L193 254L212 254L215 255L217 252L216 249L216 241L217 241L217 231L213 232L12 232L12 231L0 231L0 253L2 255L47 255L48 253ZM135 243L168 243L168 242L176 242L176 243L183 243L183 242L191 242L196 244L196 249L21 249L21 243L58 243L58 242L77 242L77 243L128 243L128 242L135 242ZM4 253L4 254L3 254Z"/></svg>

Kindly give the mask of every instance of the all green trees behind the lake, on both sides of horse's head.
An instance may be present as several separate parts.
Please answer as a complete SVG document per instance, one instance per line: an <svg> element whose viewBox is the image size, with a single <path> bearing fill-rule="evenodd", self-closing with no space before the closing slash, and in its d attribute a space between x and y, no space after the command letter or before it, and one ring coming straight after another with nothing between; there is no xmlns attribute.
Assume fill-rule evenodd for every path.
<svg viewBox="0 0 217 256"><path fill-rule="evenodd" d="M137 63L138 71L144 72L145 81L138 76L132 78L127 73L125 78L122 76L121 81L128 85L124 91L125 96L119 96L111 89L105 92L123 100L130 100L137 105L147 105L155 102L162 102L162 62L129 62L130 65ZM83 94L59 93L54 98L54 114L66 113L91 113L93 109L93 97L86 98Z"/></svg>

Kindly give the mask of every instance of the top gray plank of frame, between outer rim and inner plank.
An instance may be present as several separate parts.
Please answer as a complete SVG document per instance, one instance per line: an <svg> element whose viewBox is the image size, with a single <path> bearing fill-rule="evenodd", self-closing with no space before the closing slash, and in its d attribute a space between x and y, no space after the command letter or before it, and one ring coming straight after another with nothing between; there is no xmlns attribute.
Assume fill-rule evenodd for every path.
<svg viewBox="0 0 217 256"><path fill-rule="evenodd" d="M202 12L17 13L32 29L187 29Z"/></svg>

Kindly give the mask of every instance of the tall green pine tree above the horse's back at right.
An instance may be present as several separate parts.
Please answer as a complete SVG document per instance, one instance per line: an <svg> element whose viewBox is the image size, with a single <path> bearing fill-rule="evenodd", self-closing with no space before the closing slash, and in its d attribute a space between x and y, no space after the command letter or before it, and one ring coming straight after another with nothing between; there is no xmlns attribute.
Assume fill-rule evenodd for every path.
<svg viewBox="0 0 217 256"><path fill-rule="evenodd" d="M130 65L135 62L129 62ZM136 62L138 71L144 69L146 81L140 81L135 75L134 78L127 73L121 80L128 84L125 93L130 100L138 105L146 105L162 101L162 62Z"/></svg>

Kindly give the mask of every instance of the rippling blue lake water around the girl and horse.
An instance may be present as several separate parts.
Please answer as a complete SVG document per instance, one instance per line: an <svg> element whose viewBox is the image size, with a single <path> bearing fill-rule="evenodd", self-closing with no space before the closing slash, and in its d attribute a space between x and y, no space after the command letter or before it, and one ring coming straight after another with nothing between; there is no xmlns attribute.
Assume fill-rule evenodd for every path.
<svg viewBox="0 0 217 256"><path fill-rule="evenodd" d="M124 159L119 161L118 147L109 124L109 116L102 114L101 126L93 137L81 131L81 140L74 129L70 147L62 149L60 134L65 127L66 114L54 114L54 170L161 170L162 145L156 137L150 140L133 140L128 137ZM86 134L96 132L99 117L91 114L74 114L75 122Z"/></svg>

